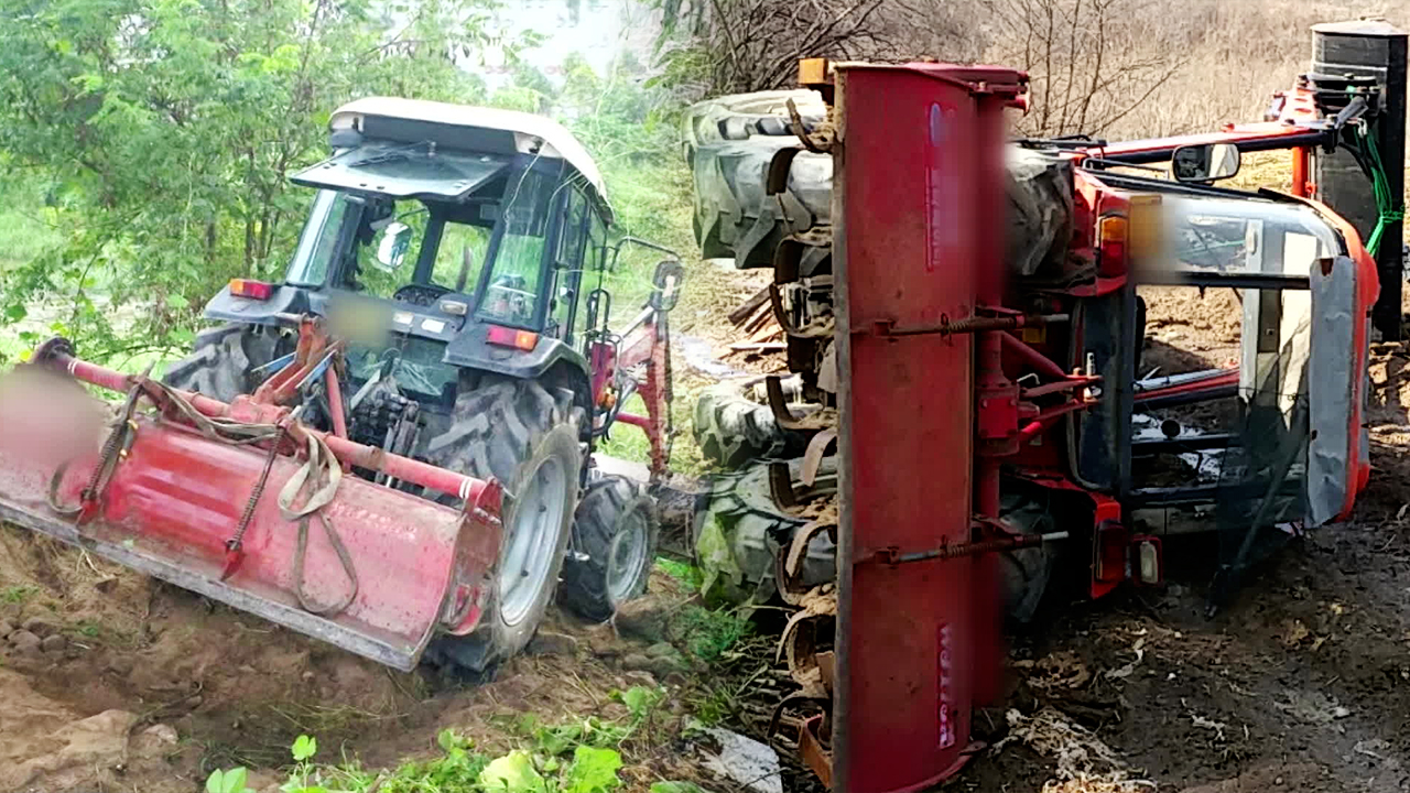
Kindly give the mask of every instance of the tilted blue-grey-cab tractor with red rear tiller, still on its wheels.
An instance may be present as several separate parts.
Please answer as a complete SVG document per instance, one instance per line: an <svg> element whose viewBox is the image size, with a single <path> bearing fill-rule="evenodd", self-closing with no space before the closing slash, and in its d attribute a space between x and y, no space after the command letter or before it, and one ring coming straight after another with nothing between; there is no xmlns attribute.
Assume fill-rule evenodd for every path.
<svg viewBox="0 0 1410 793"><path fill-rule="evenodd" d="M317 193L283 279L231 281L165 378L54 340L3 382L32 420L0 439L0 519L389 666L482 672L556 594L606 619L646 587L646 474L594 452L634 425L664 471L682 270L609 238L602 178L553 121L365 99L330 124L333 157L293 176ZM613 329L623 244L667 258Z"/></svg>

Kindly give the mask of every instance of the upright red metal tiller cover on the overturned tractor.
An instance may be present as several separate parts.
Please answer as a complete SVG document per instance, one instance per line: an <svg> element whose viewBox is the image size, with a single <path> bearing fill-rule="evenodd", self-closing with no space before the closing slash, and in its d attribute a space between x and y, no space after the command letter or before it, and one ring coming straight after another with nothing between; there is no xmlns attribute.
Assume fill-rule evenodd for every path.
<svg viewBox="0 0 1410 793"><path fill-rule="evenodd" d="M878 327L1003 305L1003 253L987 240L1003 237L1003 110L1025 82L1010 69L838 65L840 790L919 790L953 773L971 753L974 691L1000 663L984 557L887 564L877 553L969 542L976 508L997 515L998 457L1019 415L1004 332L980 334L971 382L974 336ZM988 401L979 412L976 389Z"/></svg>

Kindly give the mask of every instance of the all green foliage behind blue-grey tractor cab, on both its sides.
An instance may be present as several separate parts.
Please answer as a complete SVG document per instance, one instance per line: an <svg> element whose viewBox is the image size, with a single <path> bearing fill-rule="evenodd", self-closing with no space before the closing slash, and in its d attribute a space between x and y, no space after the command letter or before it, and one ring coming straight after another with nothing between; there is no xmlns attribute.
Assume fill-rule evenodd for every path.
<svg viewBox="0 0 1410 793"><path fill-rule="evenodd" d="M567 54L548 80L499 0L0 7L0 363L55 333L118 365L178 354L224 281L282 275L312 198L288 175L358 96L554 116L596 155L620 231L689 247L670 92L630 56L599 75ZM489 56L513 66L492 92ZM625 264L634 296L646 264Z"/></svg>

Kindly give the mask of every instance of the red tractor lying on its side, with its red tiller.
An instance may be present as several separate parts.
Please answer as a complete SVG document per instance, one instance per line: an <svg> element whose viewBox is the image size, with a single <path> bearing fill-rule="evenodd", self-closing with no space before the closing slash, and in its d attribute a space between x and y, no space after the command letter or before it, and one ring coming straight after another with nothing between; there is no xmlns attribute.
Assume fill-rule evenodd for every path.
<svg viewBox="0 0 1410 793"><path fill-rule="evenodd" d="M1170 536L1217 531L1213 610L1349 514L1369 474L1366 246L1389 244L1399 202L1363 243L1310 179L1351 154L1365 195L1390 193L1372 80L1307 75L1268 120L1206 135L1005 147L1019 72L801 72L812 92L771 113L726 97L687 124L702 246L773 267L794 373L698 405L708 454L763 456L721 477L698 543L801 608L802 693L778 722L805 759L842 790L916 790L974 751L1000 621L1031 618L1052 581L1159 584ZM1290 192L1220 183L1273 150ZM1238 360L1142 364L1149 286L1231 291Z"/></svg>

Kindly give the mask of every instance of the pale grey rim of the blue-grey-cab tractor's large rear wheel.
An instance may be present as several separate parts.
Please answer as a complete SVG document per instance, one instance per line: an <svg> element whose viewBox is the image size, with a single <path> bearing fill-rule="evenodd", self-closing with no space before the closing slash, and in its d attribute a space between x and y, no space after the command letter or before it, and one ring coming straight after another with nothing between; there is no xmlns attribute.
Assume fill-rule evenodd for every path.
<svg viewBox="0 0 1410 793"><path fill-rule="evenodd" d="M567 481L563 463L548 457L515 504L499 571L499 617L506 625L522 622L547 586L563 528Z"/></svg>

